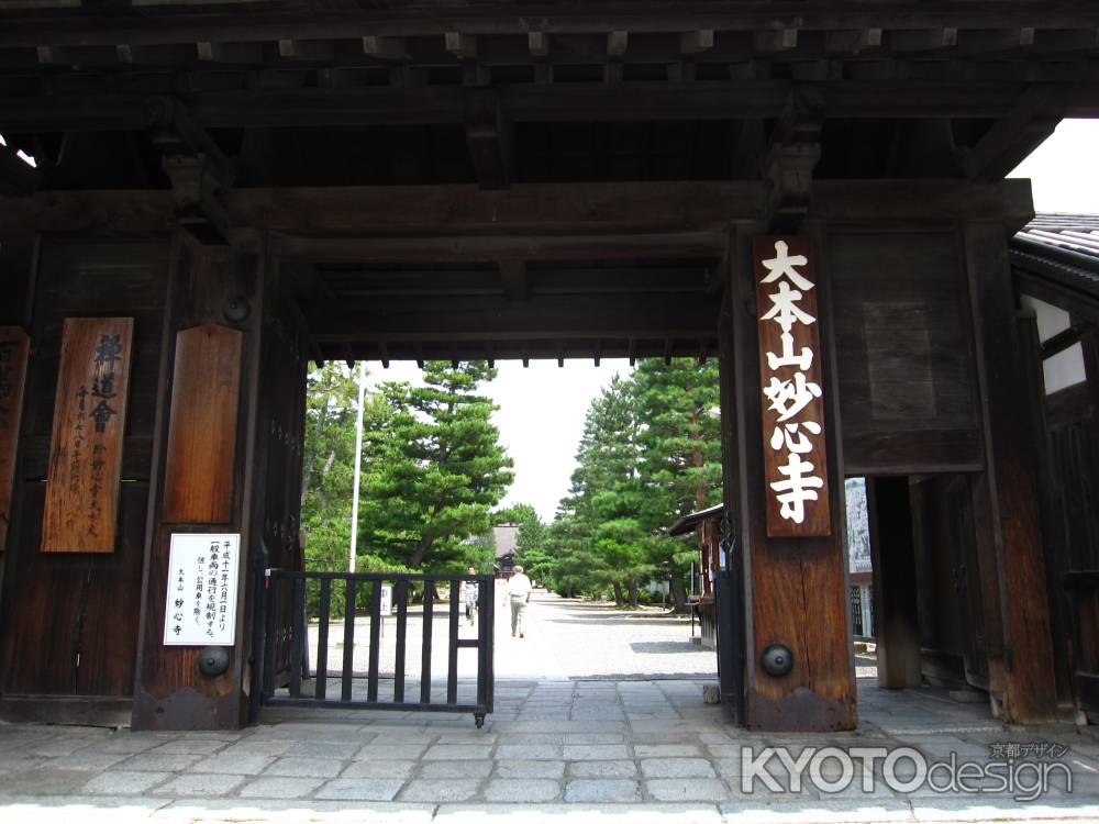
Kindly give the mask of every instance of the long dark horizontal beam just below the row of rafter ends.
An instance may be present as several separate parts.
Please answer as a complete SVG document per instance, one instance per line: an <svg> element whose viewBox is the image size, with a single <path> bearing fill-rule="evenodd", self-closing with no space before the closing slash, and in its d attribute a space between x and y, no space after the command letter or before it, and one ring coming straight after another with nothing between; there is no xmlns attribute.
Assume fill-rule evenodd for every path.
<svg viewBox="0 0 1099 824"><path fill-rule="evenodd" d="M115 87L123 86L120 81ZM630 82L493 87L510 122L645 122L754 120L780 116L788 80ZM1014 81L842 80L814 83L830 118L999 119L1018 105L1026 85ZM1099 83L1059 86L1061 116L1099 116ZM465 124L466 89L298 88L198 91L181 97L207 129L334 125ZM80 94L0 97L10 132L137 131L149 123L148 96L103 89Z"/></svg>

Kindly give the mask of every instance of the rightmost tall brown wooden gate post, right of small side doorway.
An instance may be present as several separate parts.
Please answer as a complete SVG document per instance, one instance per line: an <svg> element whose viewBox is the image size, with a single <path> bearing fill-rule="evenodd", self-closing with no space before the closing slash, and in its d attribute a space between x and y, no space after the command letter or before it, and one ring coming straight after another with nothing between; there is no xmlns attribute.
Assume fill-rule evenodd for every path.
<svg viewBox="0 0 1099 824"><path fill-rule="evenodd" d="M1041 722L1056 712L1045 584L1033 405L1001 223L967 223L966 268L981 392L986 474L975 491L981 589L999 598L1001 626L986 626L990 687L1002 689L1008 721ZM995 624L996 616L986 624ZM997 637L999 636L999 638Z"/></svg>

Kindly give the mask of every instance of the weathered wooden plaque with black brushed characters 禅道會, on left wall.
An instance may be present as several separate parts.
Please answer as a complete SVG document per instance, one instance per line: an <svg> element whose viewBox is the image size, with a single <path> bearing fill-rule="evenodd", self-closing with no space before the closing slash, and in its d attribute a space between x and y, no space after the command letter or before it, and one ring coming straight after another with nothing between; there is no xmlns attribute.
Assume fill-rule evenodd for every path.
<svg viewBox="0 0 1099 824"><path fill-rule="evenodd" d="M132 318L65 319L44 553L114 552L133 330Z"/></svg>

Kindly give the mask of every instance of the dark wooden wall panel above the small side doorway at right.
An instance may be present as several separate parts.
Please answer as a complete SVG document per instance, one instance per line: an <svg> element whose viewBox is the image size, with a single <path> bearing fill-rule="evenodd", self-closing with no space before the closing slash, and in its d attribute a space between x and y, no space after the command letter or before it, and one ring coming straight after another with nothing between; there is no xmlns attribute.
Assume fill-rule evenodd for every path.
<svg viewBox="0 0 1099 824"><path fill-rule="evenodd" d="M978 470L965 274L955 235L833 232L844 470Z"/></svg>

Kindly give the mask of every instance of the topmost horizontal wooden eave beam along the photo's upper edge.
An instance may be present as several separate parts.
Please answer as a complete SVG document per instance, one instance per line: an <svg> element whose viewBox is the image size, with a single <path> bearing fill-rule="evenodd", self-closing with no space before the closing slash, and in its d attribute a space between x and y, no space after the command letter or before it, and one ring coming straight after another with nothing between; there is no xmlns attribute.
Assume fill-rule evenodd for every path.
<svg viewBox="0 0 1099 824"><path fill-rule="evenodd" d="M142 16L120 20L95 9L74 11L51 21L48 43L54 45L107 45L126 40L137 44L158 45L170 42L195 43L218 37L226 42L275 42L282 38L308 40L356 38L363 35L440 36L453 31L460 18L462 30L470 34L525 35L531 15L500 13L498 3L481 3L470 8L462 0L454 2L417 3L395 8L355 8L351 11L223 11L212 25L202 10L177 10L165 25L163 14L145 10ZM922 3L921 14L913 14L911 3L873 3L862 8L836 8L831 3L806 3L803 0L775 0L756 5L714 3L712 0L680 0L653 13L652 3L617 3L612 12L606 4L577 3L539 13L540 31L547 34L592 34L608 29L634 33L677 34L695 29L715 31L765 31L779 20L797 20L804 31L842 29L886 30L926 29L929 18L940 27L955 30L1019 29L1033 26L1050 30L1099 29L1099 11L1077 4L1052 4L1043 0L1021 0L1007 7L989 9L980 4L958 4L935 0ZM11 20L0 32L0 47L27 47L43 43L43 26L38 19Z"/></svg>

